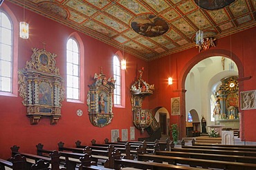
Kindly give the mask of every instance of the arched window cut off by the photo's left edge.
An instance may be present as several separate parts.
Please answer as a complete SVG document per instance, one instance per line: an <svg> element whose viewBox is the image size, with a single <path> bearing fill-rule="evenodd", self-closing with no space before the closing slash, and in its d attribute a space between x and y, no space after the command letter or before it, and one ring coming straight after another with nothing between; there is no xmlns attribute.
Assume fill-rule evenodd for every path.
<svg viewBox="0 0 256 170"><path fill-rule="evenodd" d="M12 42L12 23L6 13L0 11L0 92L13 92Z"/></svg>

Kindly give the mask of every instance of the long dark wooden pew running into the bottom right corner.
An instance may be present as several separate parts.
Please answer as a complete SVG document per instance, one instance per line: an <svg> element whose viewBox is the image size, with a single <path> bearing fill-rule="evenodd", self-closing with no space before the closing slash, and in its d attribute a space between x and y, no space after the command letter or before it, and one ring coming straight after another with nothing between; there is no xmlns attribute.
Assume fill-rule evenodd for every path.
<svg viewBox="0 0 256 170"><path fill-rule="evenodd" d="M241 163L241 162L228 162L222 160L205 160L198 158L182 158L175 156L159 156L152 154L138 154L138 160L147 161L152 160L153 162L168 162L169 164L185 164L190 167L203 167L205 169L216 168L216 169L256 169L256 164Z"/></svg>

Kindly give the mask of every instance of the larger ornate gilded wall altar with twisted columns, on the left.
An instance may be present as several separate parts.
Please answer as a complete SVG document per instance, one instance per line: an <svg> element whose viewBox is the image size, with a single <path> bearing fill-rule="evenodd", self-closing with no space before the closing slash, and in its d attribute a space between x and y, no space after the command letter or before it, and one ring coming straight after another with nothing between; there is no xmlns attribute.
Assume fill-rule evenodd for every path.
<svg viewBox="0 0 256 170"><path fill-rule="evenodd" d="M56 125L61 115L64 100L63 79L56 67L56 54L45 49L32 48L33 54L26 67L18 71L19 96L23 98L31 125L41 118L50 118Z"/></svg>

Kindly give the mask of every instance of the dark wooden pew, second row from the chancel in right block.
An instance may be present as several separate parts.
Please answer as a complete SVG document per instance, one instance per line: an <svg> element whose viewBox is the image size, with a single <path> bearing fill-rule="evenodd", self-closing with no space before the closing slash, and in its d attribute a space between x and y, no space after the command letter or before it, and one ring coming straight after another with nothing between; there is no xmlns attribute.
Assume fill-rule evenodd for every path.
<svg viewBox="0 0 256 170"><path fill-rule="evenodd" d="M219 146L188 146L185 145L185 141L181 141L182 148L191 148L191 149L217 149L217 150L228 150L228 151L251 151L256 153L256 148L244 148L244 147L219 147Z"/></svg>

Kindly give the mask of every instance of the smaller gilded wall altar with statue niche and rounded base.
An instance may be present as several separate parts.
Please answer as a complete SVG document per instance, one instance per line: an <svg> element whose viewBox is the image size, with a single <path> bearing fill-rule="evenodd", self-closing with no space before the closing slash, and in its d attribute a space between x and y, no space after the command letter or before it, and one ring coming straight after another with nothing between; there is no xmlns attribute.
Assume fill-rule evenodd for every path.
<svg viewBox="0 0 256 170"><path fill-rule="evenodd" d="M113 118L113 89L116 81L113 78L107 79L100 74L94 75L95 83L89 85L87 94L87 106L89 119L95 127L105 127L111 123Z"/></svg>

